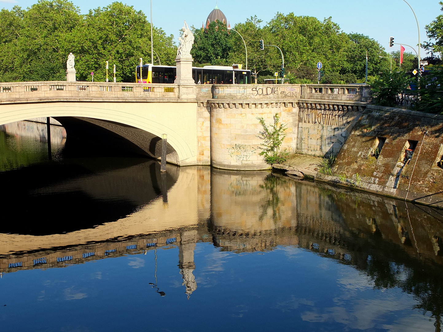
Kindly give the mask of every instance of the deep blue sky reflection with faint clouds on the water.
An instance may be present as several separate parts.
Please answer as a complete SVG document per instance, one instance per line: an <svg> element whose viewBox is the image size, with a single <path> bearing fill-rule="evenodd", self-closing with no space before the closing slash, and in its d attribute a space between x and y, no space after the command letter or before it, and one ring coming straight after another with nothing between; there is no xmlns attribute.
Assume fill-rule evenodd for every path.
<svg viewBox="0 0 443 332"><path fill-rule="evenodd" d="M198 288L187 300L179 273L179 250L6 273L0 280L3 331L433 331L430 314L400 289L374 289L352 266L297 247L263 253L224 252L197 243ZM71 322L66 323L69 313ZM19 321L20 325L4 324ZM179 323L178 323L179 322ZM4 329L3 327L6 326ZM38 329L37 329L38 330Z"/></svg>

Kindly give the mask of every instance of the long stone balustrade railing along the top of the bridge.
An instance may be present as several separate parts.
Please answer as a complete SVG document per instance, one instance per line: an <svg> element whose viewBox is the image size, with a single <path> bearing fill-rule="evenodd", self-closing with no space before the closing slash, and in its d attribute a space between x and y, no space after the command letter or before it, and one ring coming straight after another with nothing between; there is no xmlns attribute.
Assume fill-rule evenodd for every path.
<svg viewBox="0 0 443 332"><path fill-rule="evenodd" d="M0 103L41 100L219 99L367 102L369 86L334 84L146 84L111 82L0 83Z"/></svg>

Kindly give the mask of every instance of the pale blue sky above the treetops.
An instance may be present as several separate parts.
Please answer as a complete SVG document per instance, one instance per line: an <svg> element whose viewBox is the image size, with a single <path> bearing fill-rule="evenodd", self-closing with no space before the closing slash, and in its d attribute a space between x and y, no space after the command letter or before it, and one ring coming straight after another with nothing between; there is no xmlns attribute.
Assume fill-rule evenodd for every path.
<svg viewBox="0 0 443 332"><path fill-rule="evenodd" d="M35 0L0 0L0 8L12 8L19 5L23 8L34 4ZM86 1L74 0L83 13L91 8L103 7L112 0ZM149 0L122 1L142 10L149 18ZM421 40L427 40L425 25L435 17L443 14L438 0L408 0L416 12L420 24ZM216 0L152 0L153 24L163 28L167 34L179 36L179 29L186 19L189 25L200 27L202 22L214 9ZM218 7L230 21L231 25L244 22L246 18L256 15L264 22L272 19L276 12L295 15L315 16L319 20L332 16L344 32L363 33L379 41L387 51L400 48L389 46L389 36L395 42L412 46L418 43L417 25L411 9L403 0L218 0ZM406 47L407 51L412 51ZM422 57L426 56L422 51Z"/></svg>

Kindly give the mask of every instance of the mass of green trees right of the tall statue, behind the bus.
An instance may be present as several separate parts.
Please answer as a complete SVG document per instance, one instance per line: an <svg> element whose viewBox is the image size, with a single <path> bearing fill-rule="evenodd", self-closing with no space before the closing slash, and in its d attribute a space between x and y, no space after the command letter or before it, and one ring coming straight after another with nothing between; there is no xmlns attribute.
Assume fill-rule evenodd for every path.
<svg viewBox="0 0 443 332"><path fill-rule="evenodd" d="M261 26L261 23L259 18L252 16L245 23L234 26L248 49L248 69L256 75L273 77L282 64L276 47L265 46L260 50L261 39L266 45L280 47L291 83L315 81L319 61L326 74L324 82L356 83L365 77L366 51L369 75L377 76L389 69L388 59L379 57L388 54L377 41L358 33L342 32L331 17L320 21L311 16L295 16L292 12L277 13L267 24ZM224 24L212 22L209 28L194 28L194 35L193 56L197 63L245 65L241 37L234 31L227 31Z"/></svg>

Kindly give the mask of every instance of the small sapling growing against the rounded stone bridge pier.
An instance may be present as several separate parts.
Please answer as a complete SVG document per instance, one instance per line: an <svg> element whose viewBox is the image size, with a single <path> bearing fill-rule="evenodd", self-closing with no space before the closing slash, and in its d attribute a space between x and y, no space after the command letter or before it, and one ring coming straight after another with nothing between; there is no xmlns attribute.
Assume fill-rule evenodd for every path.
<svg viewBox="0 0 443 332"><path fill-rule="evenodd" d="M286 125L283 123L278 124L280 117L277 114L274 115L273 119L274 123L267 125L263 117L257 118L263 127L263 131L259 131L259 135L257 135L258 138L263 140L262 145L264 146L260 147L263 150L260 152L260 156L264 156L264 162L269 165L285 162L289 155L286 150L280 151L280 146L286 137L284 134Z"/></svg>

